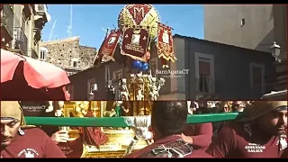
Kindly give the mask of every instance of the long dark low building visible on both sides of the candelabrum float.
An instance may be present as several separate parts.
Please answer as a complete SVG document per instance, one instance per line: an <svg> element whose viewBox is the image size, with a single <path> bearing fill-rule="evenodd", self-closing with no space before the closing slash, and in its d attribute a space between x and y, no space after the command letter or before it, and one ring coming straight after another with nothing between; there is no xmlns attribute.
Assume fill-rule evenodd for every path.
<svg viewBox="0 0 288 162"><path fill-rule="evenodd" d="M188 73L168 77L164 73L152 74L166 76L158 100L253 100L270 92L275 83L274 58L270 53L180 35L174 36L174 48L177 61L168 69L187 69ZM96 84L94 98L112 100L107 91L109 80L117 83L119 78L130 75L130 65L119 48L114 58L118 62L106 62L70 76L72 99L87 100L94 91L91 85ZM162 68L156 50L151 51L150 67L154 72L168 70Z"/></svg>

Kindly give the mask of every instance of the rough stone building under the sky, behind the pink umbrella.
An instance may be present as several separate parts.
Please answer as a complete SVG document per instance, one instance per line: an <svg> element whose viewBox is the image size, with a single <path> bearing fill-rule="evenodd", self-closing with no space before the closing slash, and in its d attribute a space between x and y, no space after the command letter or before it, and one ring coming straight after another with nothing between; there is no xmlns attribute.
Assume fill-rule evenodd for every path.
<svg viewBox="0 0 288 162"><path fill-rule="evenodd" d="M95 48L81 46L79 37L40 43L40 59L61 67L73 75L93 66Z"/></svg>

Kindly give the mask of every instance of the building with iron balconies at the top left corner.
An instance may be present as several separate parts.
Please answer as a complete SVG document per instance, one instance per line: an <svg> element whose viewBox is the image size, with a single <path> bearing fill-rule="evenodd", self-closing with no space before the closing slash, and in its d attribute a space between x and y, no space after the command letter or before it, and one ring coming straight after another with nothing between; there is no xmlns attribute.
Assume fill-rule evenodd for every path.
<svg viewBox="0 0 288 162"><path fill-rule="evenodd" d="M1 49L39 58L41 31L50 20L46 4L1 5Z"/></svg>

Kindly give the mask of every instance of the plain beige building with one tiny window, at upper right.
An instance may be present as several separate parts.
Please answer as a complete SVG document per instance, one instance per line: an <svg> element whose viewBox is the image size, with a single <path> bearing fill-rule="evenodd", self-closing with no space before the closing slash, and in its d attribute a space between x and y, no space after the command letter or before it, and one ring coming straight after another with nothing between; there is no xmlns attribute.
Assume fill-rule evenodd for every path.
<svg viewBox="0 0 288 162"><path fill-rule="evenodd" d="M275 41L281 47L281 63L275 62L275 90L287 86L286 4L205 4L204 39L247 49L270 52Z"/></svg>

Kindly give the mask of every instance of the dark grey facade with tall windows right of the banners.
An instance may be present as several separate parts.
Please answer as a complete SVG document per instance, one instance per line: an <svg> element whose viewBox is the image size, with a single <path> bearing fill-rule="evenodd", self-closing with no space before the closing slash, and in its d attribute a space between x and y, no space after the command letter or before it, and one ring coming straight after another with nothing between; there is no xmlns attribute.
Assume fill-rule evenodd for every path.
<svg viewBox="0 0 288 162"><path fill-rule="evenodd" d="M176 57L184 56L175 69L189 69L189 75L175 78L188 99L255 100L273 88L270 53L180 35L174 42Z"/></svg>

